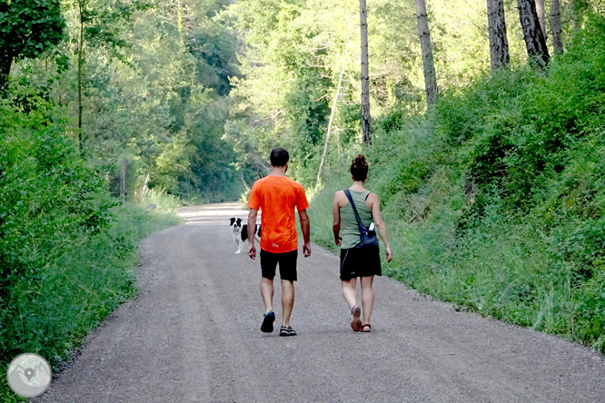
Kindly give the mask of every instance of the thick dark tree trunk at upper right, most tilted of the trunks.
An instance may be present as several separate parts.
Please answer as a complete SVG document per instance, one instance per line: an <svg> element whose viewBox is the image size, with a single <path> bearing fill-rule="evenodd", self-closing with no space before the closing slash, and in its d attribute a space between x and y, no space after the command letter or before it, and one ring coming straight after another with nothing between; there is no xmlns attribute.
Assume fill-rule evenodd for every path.
<svg viewBox="0 0 605 403"><path fill-rule="evenodd" d="M533 0L517 0L517 4L530 63L544 68L549 64L550 55L538 20L536 4Z"/></svg>

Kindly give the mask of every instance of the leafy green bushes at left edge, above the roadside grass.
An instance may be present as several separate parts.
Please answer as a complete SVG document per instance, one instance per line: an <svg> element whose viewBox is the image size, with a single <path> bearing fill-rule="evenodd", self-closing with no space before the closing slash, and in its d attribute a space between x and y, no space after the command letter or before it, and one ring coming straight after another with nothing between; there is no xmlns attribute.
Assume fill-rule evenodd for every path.
<svg viewBox="0 0 605 403"><path fill-rule="evenodd" d="M60 113L42 101L30 113L19 113L7 103L0 106L5 286L21 277L20 270L37 270L56 259L50 251L61 253L58 245L71 237L102 231L112 202L100 196L103 182L78 159L73 142L64 138Z"/></svg>

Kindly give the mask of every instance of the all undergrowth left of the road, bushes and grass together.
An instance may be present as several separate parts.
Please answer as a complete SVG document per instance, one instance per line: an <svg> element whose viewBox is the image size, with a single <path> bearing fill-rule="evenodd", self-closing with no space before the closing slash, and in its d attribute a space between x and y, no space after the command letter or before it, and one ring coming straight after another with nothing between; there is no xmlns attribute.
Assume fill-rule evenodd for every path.
<svg viewBox="0 0 605 403"><path fill-rule="evenodd" d="M88 168L60 108L0 103L0 372L23 352L54 368L134 296L136 245L179 221L178 200L122 205ZM17 399L0 377L0 399Z"/></svg>

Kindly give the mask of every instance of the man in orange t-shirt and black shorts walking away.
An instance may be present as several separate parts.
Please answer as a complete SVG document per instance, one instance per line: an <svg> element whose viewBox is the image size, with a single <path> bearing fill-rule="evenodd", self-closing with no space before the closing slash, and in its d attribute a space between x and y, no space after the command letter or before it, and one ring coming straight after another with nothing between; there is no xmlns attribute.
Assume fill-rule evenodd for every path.
<svg viewBox="0 0 605 403"><path fill-rule="evenodd" d="M307 215L307 196L302 185L285 175L288 170L290 155L283 148L271 152L271 175L254 182L248 207L248 255L256 258L254 246L254 228L259 209L261 216L261 295L267 312L264 314L261 330L273 331L273 278L277 264L280 265L282 280L283 322L280 336L295 336L296 331L290 326L290 315L294 304L294 281L296 280L296 259L298 257L298 236L296 234L296 216L298 210L301 221L302 251L304 257L311 255L309 241L309 216Z"/></svg>

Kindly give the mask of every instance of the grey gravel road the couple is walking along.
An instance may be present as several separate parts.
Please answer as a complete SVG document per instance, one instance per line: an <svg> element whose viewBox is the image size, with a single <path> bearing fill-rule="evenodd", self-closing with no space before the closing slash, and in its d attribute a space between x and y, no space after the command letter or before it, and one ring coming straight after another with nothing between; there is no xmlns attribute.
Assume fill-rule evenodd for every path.
<svg viewBox="0 0 605 403"><path fill-rule="evenodd" d="M372 332L352 332L339 261L314 245L299 253L298 336L262 333L260 262L233 253L228 228L247 213L223 203L182 215L142 242L139 297L36 402L605 402L598 353L389 278L375 280ZM276 325L280 300L278 286Z"/></svg>

